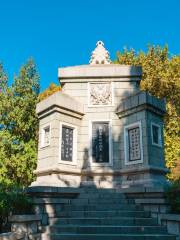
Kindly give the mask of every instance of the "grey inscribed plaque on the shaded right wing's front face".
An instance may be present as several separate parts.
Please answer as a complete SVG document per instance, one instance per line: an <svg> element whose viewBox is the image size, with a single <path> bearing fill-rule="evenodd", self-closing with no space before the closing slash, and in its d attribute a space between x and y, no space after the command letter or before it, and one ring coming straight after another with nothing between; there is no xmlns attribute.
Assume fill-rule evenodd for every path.
<svg viewBox="0 0 180 240"><path fill-rule="evenodd" d="M128 130L129 139L129 161L136 161L141 159L140 147L140 128L132 128Z"/></svg>

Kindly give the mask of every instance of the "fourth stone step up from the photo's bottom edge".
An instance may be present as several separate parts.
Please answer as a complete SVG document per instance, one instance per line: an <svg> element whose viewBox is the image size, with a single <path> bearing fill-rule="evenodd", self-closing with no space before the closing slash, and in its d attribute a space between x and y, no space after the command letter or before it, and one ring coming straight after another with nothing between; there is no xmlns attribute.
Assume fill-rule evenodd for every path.
<svg viewBox="0 0 180 240"><path fill-rule="evenodd" d="M150 212L128 211L128 210L107 210L107 211L61 211L48 213L49 217L150 217Z"/></svg>

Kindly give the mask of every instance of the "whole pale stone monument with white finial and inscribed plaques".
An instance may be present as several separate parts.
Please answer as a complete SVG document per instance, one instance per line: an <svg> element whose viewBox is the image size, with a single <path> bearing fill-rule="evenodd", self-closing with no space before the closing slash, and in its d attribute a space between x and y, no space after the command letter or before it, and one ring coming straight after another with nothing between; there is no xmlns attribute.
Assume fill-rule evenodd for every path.
<svg viewBox="0 0 180 240"><path fill-rule="evenodd" d="M160 186L164 100L139 89L141 67L113 64L102 41L89 65L58 69L62 86L37 105L32 186Z"/></svg>

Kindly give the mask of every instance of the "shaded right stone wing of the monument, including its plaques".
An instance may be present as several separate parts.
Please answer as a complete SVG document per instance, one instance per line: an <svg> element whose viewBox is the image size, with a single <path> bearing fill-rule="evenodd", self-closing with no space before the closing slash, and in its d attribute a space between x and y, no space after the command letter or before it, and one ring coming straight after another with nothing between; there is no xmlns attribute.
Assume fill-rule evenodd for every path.
<svg viewBox="0 0 180 240"><path fill-rule="evenodd" d="M117 115L126 123L122 187L167 184L163 142L165 112L165 101L147 92L125 98L118 106Z"/></svg>

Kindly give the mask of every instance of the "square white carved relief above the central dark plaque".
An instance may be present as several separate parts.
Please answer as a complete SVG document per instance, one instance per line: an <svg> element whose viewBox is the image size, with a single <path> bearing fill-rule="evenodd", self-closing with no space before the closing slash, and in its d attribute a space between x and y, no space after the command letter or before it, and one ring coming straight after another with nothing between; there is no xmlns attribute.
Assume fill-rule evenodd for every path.
<svg viewBox="0 0 180 240"><path fill-rule="evenodd" d="M111 83L90 83L90 105L112 105Z"/></svg>

